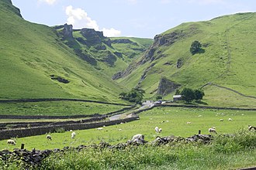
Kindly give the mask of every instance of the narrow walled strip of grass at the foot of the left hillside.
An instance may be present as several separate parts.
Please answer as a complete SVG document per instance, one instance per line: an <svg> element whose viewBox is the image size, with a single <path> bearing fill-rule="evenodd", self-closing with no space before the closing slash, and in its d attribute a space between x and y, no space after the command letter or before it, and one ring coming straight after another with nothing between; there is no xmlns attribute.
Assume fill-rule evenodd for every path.
<svg viewBox="0 0 256 170"><path fill-rule="evenodd" d="M108 114L122 109L123 106L111 104L95 104L78 101L47 101L33 103L0 104L0 115L29 116L72 116Z"/></svg>

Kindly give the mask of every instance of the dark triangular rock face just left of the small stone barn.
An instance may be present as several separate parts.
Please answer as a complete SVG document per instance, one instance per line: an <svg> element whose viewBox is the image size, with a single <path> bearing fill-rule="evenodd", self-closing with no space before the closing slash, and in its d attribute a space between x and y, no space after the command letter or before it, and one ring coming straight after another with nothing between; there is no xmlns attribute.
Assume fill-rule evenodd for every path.
<svg viewBox="0 0 256 170"><path fill-rule="evenodd" d="M181 86L180 84L173 83L171 82L171 80L168 80L167 78L162 77L158 85L157 93L162 96L166 96L169 93L178 89L178 87L180 86Z"/></svg>

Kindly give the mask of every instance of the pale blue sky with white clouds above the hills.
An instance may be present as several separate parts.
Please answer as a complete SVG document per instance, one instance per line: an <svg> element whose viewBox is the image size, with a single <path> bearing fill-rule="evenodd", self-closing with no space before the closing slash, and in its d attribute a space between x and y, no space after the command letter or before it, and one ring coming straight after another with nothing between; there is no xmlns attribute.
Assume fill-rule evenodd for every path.
<svg viewBox="0 0 256 170"><path fill-rule="evenodd" d="M255 0L12 0L29 22L153 39L182 22L256 12Z"/></svg>

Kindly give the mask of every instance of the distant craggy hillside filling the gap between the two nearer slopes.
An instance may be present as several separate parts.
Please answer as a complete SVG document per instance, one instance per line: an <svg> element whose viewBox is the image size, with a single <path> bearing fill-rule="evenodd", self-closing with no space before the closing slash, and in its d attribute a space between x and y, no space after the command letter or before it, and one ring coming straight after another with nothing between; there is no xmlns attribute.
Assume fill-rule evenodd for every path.
<svg viewBox="0 0 256 170"><path fill-rule="evenodd" d="M141 56L153 39L108 38L94 29L73 29L73 26L55 26L60 39L81 59L112 76Z"/></svg>

